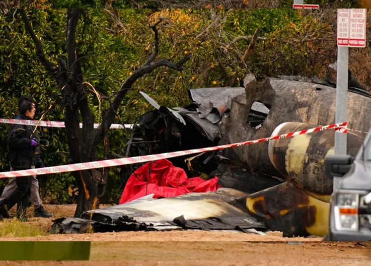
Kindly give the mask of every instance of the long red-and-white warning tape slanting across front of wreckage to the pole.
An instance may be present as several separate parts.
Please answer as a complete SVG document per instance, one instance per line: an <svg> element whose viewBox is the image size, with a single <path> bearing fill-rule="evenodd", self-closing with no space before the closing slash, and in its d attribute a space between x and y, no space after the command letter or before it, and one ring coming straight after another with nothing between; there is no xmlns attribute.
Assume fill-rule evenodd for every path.
<svg viewBox="0 0 371 266"><path fill-rule="evenodd" d="M215 146L215 147L207 147L207 148L193 149L193 150L179 151L179 152L143 155L143 156L136 156L136 157L120 158L120 159L102 160L102 161L95 161L95 162L50 166L50 167L35 168L35 169L20 170L20 171L2 172L0 173L0 178L55 174L55 173L72 172L72 171L88 170L88 169L103 168L103 167L112 167L112 166L119 166L119 165L128 165L128 164L135 164L135 163L144 163L144 162L150 162L150 161L155 161L159 159L167 159L167 158L191 155L191 154L202 153L202 152L211 152L211 151L223 150L227 148L234 148L234 147L239 147L243 145L250 145L250 144L261 143L261 142L266 142L266 141L271 141L271 140L291 138L294 136L310 134L313 132L322 131L326 129L335 129L336 131L340 131L342 133L347 132L346 122L343 122L343 123L330 124L330 125L325 125L325 126L318 126L318 127L310 128L310 129L304 129L301 131L290 132L287 134L273 136L269 138L239 142L239 143L234 143L234 144L220 145L220 146Z"/></svg>

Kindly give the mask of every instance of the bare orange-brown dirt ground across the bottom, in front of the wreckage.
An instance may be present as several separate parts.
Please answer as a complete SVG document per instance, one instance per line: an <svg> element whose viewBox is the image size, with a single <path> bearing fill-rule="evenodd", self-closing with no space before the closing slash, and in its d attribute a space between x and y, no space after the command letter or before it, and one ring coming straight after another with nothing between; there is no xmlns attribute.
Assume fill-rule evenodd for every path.
<svg viewBox="0 0 371 266"><path fill-rule="evenodd" d="M46 206L55 218L71 217L75 206ZM31 208L32 209L32 208ZM52 219L29 223L48 230ZM370 265L371 244L321 242L320 237L284 238L235 231L112 232L3 237L0 241L92 241L90 260L45 261L50 265ZM99 260L99 262L97 261ZM41 261L0 261L0 265L40 265Z"/></svg>

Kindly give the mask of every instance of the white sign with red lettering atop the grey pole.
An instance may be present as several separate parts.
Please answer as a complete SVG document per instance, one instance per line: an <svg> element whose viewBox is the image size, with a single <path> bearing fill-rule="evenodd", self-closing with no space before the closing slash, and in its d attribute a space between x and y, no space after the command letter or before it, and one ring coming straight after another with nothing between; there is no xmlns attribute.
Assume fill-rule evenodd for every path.
<svg viewBox="0 0 371 266"><path fill-rule="evenodd" d="M337 10L337 45L366 46L366 9Z"/></svg>

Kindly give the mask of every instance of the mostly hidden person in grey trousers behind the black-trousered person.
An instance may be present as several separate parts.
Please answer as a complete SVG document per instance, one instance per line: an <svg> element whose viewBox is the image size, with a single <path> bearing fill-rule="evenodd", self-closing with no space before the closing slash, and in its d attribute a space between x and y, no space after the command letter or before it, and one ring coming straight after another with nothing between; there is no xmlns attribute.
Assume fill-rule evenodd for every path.
<svg viewBox="0 0 371 266"><path fill-rule="evenodd" d="M24 101L28 101L28 102L31 102L31 103L34 102L33 99L29 96L21 96L19 98L19 102L18 102L18 109L21 109L21 104ZM18 114L15 117L15 119L21 119L21 114ZM38 147L35 150L35 153L36 153L36 156L40 157L40 152L39 152ZM35 167L36 168L44 167L44 164L43 164L41 159L36 160ZM13 171L12 168L11 168L11 171ZM34 205L34 208L35 208L34 217L50 218L53 215L51 213L48 213L44 209L44 207L42 206L42 203L41 203L41 198L40 198L40 194L39 194L39 181L37 180L37 176L34 175L32 177L33 178L32 178L32 183L31 183L31 197L30 197L30 200L31 200L31 202L32 202L32 204ZM3 193L0 196L0 202L2 200L5 200L5 198L7 198L14 190L16 190L16 188L17 188L16 178L15 177L8 178L8 183L4 187Z"/></svg>

